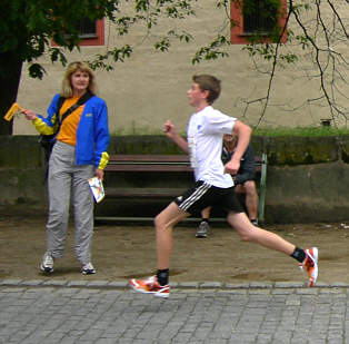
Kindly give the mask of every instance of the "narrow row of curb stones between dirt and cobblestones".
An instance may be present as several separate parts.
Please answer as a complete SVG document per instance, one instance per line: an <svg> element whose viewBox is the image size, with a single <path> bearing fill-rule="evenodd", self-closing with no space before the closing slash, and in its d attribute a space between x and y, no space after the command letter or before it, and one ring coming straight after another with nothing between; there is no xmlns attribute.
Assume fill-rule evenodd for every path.
<svg viewBox="0 0 349 344"><path fill-rule="evenodd" d="M171 282L171 287L178 289L308 289L306 283L300 282L250 282L242 284L220 282ZM94 289L126 289L127 281L66 281L66 279L0 279L0 287L66 287L66 288L94 288ZM312 289L318 288L349 288L348 283L335 282L326 284L318 282Z"/></svg>

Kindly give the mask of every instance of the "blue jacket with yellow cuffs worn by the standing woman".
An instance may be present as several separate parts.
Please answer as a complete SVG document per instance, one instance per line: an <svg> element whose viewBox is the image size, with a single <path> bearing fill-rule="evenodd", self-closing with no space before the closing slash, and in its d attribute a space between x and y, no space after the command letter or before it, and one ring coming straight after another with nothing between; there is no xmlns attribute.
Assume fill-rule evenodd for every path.
<svg viewBox="0 0 349 344"><path fill-rule="evenodd" d="M37 115L32 121L34 128L43 135L51 135L56 131L56 111L59 95L56 95L49 105L48 116ZM56 125L54 125L56 124ZM108 109L106 102L92 96L83 105L76 132L76 164L93 165L103 169L108 164L109 155Z"/></svg>

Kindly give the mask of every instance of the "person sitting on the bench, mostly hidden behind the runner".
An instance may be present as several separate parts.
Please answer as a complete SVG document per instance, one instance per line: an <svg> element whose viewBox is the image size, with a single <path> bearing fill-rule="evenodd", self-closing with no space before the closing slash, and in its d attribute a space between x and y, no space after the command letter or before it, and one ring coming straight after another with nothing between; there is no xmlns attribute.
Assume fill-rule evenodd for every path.
<svg viewBox="0 0 349 344"><path fill-rule="evenodd" d="M237 138L232 135L223 135L223 147L222 147L222 155L221 159L226 165L237 146ZM248 217L250 222L257 226L257 213L258 213L258 194L255 183L255 153L251 145L248 146L246 149L241 164L240 169L236 176L232 176L233 183L236 187L233 188L235 193L237 194L245 194L246 195L246 208L248 213ZM205 238L208 235L210 229L209 226L209 218L210 218L211 208L208 207L201 212L201 223L197 230L196 236L198 238Z"/></svg>

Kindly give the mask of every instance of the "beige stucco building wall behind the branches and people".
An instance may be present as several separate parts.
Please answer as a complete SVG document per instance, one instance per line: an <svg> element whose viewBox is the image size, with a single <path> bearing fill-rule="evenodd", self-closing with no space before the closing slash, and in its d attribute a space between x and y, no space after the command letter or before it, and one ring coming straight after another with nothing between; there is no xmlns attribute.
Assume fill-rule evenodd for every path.
<svg viewBox="0 0 349 344"><path fill-rule="evenodd" d="M346 18L348 28L349 6L342 0L335 1L337 10ZM160 22L157 31L144 37L144 31L137 28L126 38L117 38L112 27L106 22L106 46L113 47L128 42L133 47L133 55L124 62L114 65L113 71L97 71L99 96L106 99L109 108L110 131L112 134L152 134L161 130L162 122L170 118L185 131L191 108L187 104L186 91L190 86L193 73L213 73L222 80L222 94L216 107L223 112L256 126L262 104L256 101L246 107L246 101L263 98L268 89L270 63L258 61L258 69L251 58L243 51L242 46L226 48L228 58L192 66L191 58L198 47L206 45L223 28L226 20L222 10L215 9L211 0L200 0L196 4L197 17L187 19L182 26L191 32L196 40L190 45L173 43L167 53L152 49L157 33L168 30L168 20ZM326 9L325 9L326 10ZM307 13L307 21L315 19L313 11ZM295 23L291 23L295 26ZM229 26L223 28L228 33ZM333 47L347 55L348 41ZM68 60L82 60L93 57L103 47L82 47L81 53L68 53ZM309 56L298 46L288 42L285 48L300 53L296 66L279 67L271 89L270 107L263 116L261 126L319 126L320 119L330 118L326 102L310 104L309 99L319 97L319 80L313 76L316 70ZM285 50L285 51L286 51ZM282 50L283 51L283 50ZM37 112L44 114L53 94L60 90L63 68L52 65L47 58L40 62L47 70L43 80L33 80L27 76L23 68L18 102ZM349 71L343 75L349 79ZM342 88L342 91L346 89ZM347 88L348 91L348 88ZM349 107L348 100L346 106ZM345 121L338 119L339 125ZM23 118L16 118L14 134L36 134L31 125Z"/></svg>

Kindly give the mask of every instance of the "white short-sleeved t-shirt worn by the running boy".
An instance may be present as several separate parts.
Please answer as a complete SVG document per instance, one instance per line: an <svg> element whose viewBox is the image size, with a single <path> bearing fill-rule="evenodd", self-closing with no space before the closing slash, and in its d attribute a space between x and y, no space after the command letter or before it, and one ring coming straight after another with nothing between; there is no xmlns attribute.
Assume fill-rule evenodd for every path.
<svg viewBox="0 0 349 344"><path fill-rule="evenodd" d="M231 176L223 173L221 151L223 134L231 134L236 120L211 106L190 117L187 139L196 180L221 188L233 186Z"/></svg>

